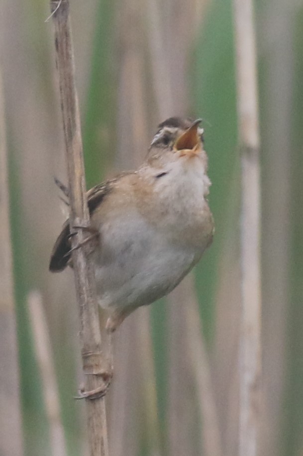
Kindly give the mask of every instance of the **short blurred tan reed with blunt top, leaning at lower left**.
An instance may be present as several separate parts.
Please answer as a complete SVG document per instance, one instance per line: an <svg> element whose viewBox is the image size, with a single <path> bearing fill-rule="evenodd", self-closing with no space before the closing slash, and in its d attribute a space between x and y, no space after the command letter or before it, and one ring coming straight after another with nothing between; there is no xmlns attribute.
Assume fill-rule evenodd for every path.
<svg viewBox="0 0 303 456"><path fill-rule="evenodd" d="M65 456L67 453L60 414L59 392L41 293L32 291L28 295L27 302L34 348L42 380L46 415L50 427L51 452L53 456Z"/></svg>

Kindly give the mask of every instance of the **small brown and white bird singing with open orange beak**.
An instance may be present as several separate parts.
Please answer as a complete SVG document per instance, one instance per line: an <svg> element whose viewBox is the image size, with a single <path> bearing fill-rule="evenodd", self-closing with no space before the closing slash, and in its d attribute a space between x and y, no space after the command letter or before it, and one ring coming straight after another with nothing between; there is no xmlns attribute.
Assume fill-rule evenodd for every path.
<svg viewBox="0 0 303 456"><path fill-rule="evenodd" d="M172 291L212 242L211 183L201 121L166 119L137 170L87 192L91 230L98 234L90 258L109 332L136 308ZM72 266L71 256L67 220L54 244L50 271Z"/></svg>

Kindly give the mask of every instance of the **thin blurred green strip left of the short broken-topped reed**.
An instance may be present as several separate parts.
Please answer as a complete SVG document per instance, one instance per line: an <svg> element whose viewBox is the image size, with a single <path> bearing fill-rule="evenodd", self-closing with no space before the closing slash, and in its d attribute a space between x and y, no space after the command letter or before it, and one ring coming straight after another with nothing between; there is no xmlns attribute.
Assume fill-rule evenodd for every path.
<svg viewBox="0 0 303 456"><path fill-rule="evenodd" d="M39 372L34 356L31 329L28 320L26 296L32 286L29 239L24 224L20 201L19 168L16 149L8 134L10 226L13 253L14 293L16 299L16 320L18 333L18 354L20 369L20 400L24 435L24 455L50 455L48 426L43 405Z"/></svg>

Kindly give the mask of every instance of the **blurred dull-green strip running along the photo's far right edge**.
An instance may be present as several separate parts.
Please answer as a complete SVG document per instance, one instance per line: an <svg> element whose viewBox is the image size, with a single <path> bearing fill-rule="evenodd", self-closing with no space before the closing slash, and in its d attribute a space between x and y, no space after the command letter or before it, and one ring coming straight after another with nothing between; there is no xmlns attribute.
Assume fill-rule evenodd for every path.
<svg viewBox="0 0 303 456"><path fill-rule="evenodd" d="M291 149L291 261L290 303L287 328L287 369L284 404L281 410L280 455L303 454L303 7L293 16L294 93L292 99Z"/></svg>

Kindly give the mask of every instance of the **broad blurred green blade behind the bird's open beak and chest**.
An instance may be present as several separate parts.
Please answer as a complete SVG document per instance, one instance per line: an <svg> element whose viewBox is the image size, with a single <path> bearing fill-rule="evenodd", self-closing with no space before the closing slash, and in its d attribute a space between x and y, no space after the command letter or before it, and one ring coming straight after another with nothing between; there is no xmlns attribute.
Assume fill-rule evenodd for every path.
<svg viewBox="0 0 303 456"><path fill-rule="evenodd" d="M209 206L215 221L213 244L196 267L196 287L208 342L214 331L214 302L220 252L229 232L230 191L237 160L236 90L230 0L214 0L203 20L193 61L192 100L204 119L208 175L212 182ZM232 221L234 229L237 221Z"/></svg>

